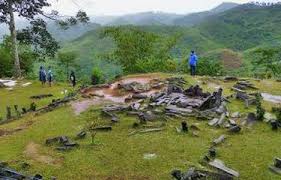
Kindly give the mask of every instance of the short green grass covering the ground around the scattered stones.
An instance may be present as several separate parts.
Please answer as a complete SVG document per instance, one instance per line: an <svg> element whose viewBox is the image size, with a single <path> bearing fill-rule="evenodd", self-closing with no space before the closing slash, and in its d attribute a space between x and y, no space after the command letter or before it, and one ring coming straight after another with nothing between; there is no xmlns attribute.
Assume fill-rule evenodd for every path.
<svg viewBox="0 0 281 180"><path fill-rule="evenodd" d="M166 76L170 75L159 75ZM214 88L208 87L208 82L217 83L225 88L232 85L208 78L185 77L189 84L206 81L207 84L203 87L209 90ZM257 86L262 90L268 92L272 90L280 94L278 91L281 88L280 84L272 81L269 88L264 83L257 82ZM55 93L64 87L61 85L46 89ZM9 99L13 97L24 105L30 103L27 97L35 92L42 92L40 85L36 83L26 89L19 88L10 92L0 90L0 97L2 99L5 96L6 102L11 101ZM229 90L225 91L226 95L230 93ZM272 104L265 103L264 106L270 109ZM5 107L2 102L1 107ZM204 168L199 164L199 160L208 152L214 138L226 134L226 142L218 147L218 158L239 171L241 179L280 178L271 173L268 166L273 163L274 157L281 156L281 133L271 131L270 126L263 122L255 124L252 128L243 128L241 134L230 135L224 129L209 127L205 121L186 118L184 120L189 125L196 124L201 129L199 137L193 137L191 134L176 132L175 128L180 126L183 119L171 119L166 122L165 130L162 132L128 136L133 131L132 124L137 119L120 114L121 120L113 126L111 132L96 135L95 145L91 144L89 135L86 139L77 141L80 144L79 148L70 152L60 153L54 150L53 146L45 145L45 140L50 137L67 135L74 138L76 133L90 122L108 124L109 120L100 116L99 108L92 107L80 116L75 116L70 106L64 106L47 114L40 116L30 114L21 120L1 125L1 130L11 130L33 122L27 129L0 137L0 160L10 162L13 167L26 174L40 173L46 179L51 176L58 179L171 179L170 172L175 168L182 170L190 166ZM232 112L254 110L245 109L243 103L234 100L229 108ZM27 156L24 151L31 142L39 145L40 155L50 156L60 163L57 166L47 165ZM143 155L146 153L155 153L157 157L145 160ZM29 163L31 167L27 170L21 169L22 162Z"/></svg>

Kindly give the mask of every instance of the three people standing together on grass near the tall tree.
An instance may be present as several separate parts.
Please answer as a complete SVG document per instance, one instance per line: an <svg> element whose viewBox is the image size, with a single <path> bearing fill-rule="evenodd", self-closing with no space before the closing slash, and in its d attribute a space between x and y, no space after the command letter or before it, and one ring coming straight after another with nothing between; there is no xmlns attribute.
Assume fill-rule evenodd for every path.
<svg viewBox="0 0 281 180"><path fill-rule="evenodd" d="M75 76L74 71L71 71L69 80L70 80L72 86L75 87L76 86L76 76ZM47 71L45 70L45 68L43 66L40 66L39 81L42 83L42 86L44 86L46 84L46 82L48 82L50 87L52 86L52 83L54 81L54 74L53 74L50 66Z"/></svg>

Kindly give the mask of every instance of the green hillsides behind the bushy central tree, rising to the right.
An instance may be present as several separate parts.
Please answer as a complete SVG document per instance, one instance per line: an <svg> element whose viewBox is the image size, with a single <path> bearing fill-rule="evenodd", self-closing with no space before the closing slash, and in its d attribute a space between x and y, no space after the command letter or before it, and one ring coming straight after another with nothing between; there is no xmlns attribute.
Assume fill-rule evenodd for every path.
<svg viewBox="0 0 281 180"><path fill-rule="evenodd" d="M251 68L253 66L251 63L255 55L254 50L250 51L250 49L278 48L280 45L280 5L224 4L202 14L204 13L208 16L197 21L198 24L194 27L138 24L135 28L153 33L162 39L176 38L169 52L171 58L178 64L177 70L181 72L187 71L189 52L195 50L201 59L221 63L224 74L253 76L255 72ZM191 17L186 19L192 20ZM119 28L126 32L130 27L132 26L127 25ZM100 68L105 65L110 66L112 61L108 60L112 57L104 55L111 54L116 45L111 38L104 39L99 35L106 28L89 31L66 44L63 51L76 51L79 54L78 62L87 62L88 65L92 64ZM114 67L118 67L118 64ZM91 71L86 68L85 72ZM113 70L113 72L110 72L110 77L121 71Z"/></svg>

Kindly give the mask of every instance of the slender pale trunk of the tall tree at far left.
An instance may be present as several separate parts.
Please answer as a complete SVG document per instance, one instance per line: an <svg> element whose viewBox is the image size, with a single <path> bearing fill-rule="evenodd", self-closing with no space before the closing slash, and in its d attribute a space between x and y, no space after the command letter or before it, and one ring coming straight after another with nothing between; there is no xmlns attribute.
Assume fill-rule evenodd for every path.
<svg viewBox="0 0 281 180"><path fill-rule="evenodd" d="M21 69L20 69L20 59L19 59L19 52L18 52L18 44L17 44L17 31L16 31L16 23L12 5L9 5L9 14L10 14L10 33L12 38L12 54L14 58L14 76L21 77Z"/></svg>

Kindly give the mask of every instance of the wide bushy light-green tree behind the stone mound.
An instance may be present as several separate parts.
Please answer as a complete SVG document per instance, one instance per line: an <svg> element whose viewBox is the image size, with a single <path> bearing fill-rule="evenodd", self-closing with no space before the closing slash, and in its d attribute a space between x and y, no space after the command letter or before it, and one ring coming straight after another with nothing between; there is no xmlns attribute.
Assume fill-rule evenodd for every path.
<svg viewBox="0 0 281 180"><path fill-rule="evenodd" d="M176 69L170 61L170 50L179 34L166 37L142 30L135 26L106 28L102 37L111 37L116 43L112 58L126 73L143 73Z"/></svg>

